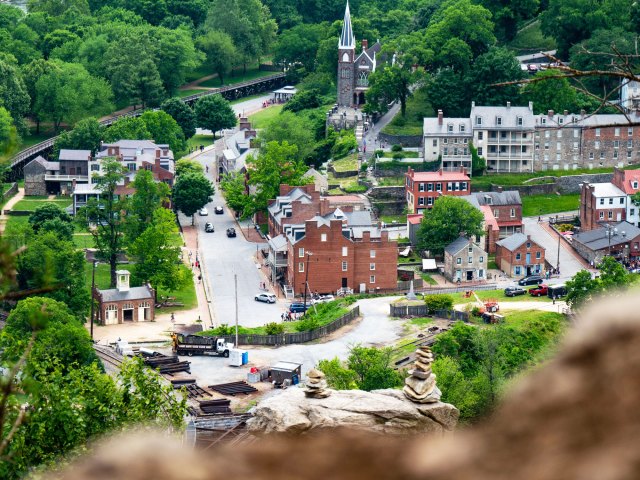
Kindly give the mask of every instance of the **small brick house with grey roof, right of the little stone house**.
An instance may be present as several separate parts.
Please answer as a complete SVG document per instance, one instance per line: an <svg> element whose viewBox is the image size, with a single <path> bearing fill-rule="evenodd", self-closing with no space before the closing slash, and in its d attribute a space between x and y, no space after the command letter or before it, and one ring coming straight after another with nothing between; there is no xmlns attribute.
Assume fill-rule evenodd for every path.
<svg viewBox="0 0 640 480"><path fill-rule="evenodd" d="M496 263L509 277L526 277L544 272L545 249L530 235L515 233L496 244Z"/></svg>

